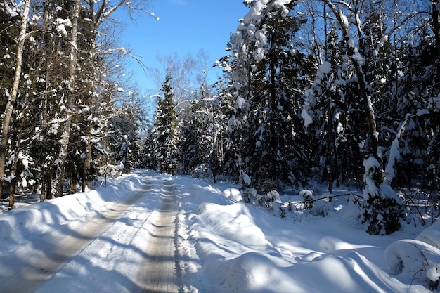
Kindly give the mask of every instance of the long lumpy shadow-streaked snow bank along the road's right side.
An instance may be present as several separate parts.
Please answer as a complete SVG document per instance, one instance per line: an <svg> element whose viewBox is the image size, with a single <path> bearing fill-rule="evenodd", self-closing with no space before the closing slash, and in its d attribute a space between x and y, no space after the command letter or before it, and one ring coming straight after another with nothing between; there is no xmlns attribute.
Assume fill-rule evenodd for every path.
<svg viewBox="0 0 440 293"><path fill-rule="evenodd" d="M297 234L299 226L260 207L233 202L227 193L200 185L189 189L191 200L207 201L198 205L197 214L188 216L190 239L200 261L198 282L192 282L200 286L192 287L194 292L427 292L420 285L390 278L359 253L376 251L374 245L351 244L350 238L340 237L344 233L340 238L317 237L311 230ZM333 222L341 229L335 219L318 216L316 221L325 221L325 227L313 226L313 221L302 224L310 224L318 235L323 230L331 233Z"/></svg>

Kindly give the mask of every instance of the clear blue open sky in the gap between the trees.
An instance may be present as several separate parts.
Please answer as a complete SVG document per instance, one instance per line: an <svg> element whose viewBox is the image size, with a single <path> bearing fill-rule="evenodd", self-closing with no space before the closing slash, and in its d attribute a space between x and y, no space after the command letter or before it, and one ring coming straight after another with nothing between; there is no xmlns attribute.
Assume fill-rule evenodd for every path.
<svg viewBox="0 0 440 293"><path fill-rule="evenodd" d="M242 0L150 0L150 4L149 12L160 20L148 15L138 17L136 22L126 20L122 44L141 56L146 66L162 70L157 56L178 53L183 58L200 49L208 53L208 69L214 70L210 65L226 55L229 35L248 11ZM130 70L143 90L156 88L153 77L145 75L136 62L131 61ZM215 72L209 74L212 80L215 76Z"/></svg>

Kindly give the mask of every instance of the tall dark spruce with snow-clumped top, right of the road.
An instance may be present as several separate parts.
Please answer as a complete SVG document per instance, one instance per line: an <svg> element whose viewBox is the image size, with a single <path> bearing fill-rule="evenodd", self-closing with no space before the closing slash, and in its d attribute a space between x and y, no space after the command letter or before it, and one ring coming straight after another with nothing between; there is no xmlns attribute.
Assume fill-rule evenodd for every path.
<svg viewBox="0 0 440 293"><path fill-rule="evenodd" d="M293 7L295 1L254 1L233 37L238 53L231 129L242 128L241 162L260 188L302 182L309 165L299 123L306 58L295 39L303 20Z"/></svg>

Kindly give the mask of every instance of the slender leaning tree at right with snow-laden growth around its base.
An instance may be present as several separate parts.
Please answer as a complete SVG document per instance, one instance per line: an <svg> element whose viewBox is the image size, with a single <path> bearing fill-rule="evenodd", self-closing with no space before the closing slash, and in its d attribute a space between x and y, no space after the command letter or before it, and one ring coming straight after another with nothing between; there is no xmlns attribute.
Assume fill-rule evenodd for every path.
<svg viewBox="0 0 440 293"><path fill-rule="evenodd" d="M368 80L365 79L363 63L365 47L363 46L363 34L361 31L361 3L355 2L351 8L351 20L344 14L342 8L332 1L324 0L333 15L335 16L339 29L347 44L347 55L351 60L356 74L359 99L363 108L360 110L365 114L368 123L368 140L370 141L371 152L369 158L365 160L365 190L364 190L364 211L363 221L368 223L367 231L370 234L389 234L399 230L399 220L403 218L403 208L401 202L394 195L394 191L385 184L384 167L382 165L382 156L379 152L379 133L375 116L374 105L370 96ZM354 29L351 29L351 23ZM374 32L374 30L373 30ZM356 39L355 39L356 36ZM368 36L373 37L373 36ZM368 60L369 61L369 60Z"/></svg>

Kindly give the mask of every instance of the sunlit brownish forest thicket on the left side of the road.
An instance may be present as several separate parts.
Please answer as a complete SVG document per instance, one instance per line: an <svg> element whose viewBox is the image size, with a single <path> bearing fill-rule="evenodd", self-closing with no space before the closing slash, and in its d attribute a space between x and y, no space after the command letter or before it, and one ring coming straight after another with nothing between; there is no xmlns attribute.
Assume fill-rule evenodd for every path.
<svg viewBox="0 0 440 293"><path fill-rule="evenodd" d="M123 101L133 95L115 68L127 52L109 20L136 5L0 2L0 194L10 209L15 193L38 190L45 200L134 166L139 114Z"/></svg>

